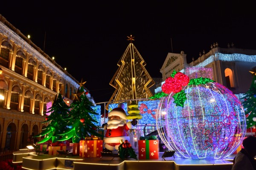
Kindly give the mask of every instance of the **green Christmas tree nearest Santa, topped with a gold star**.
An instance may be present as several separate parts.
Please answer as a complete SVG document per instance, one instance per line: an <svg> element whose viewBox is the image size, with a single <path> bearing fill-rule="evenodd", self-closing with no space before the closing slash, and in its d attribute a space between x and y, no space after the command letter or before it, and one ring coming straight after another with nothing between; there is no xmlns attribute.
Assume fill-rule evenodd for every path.
<svg viewBox="0 0 256 170"><path fill-rule="evenodd" d="M77 93L74 94L73 103L70 105L72 108L69 114L70 116L65 119L67 128L58 133L58 135L62 136L58 141L65 141L72 138L73 143L79 143L82 138L91 135L103 137L103 135L96 132L97 127L93 124L93 122L98 122L90 116L90 114L98 115L98 113L93 110L93 104L86 96L88 92L84 91L84 83L80 83Z"/></svg>

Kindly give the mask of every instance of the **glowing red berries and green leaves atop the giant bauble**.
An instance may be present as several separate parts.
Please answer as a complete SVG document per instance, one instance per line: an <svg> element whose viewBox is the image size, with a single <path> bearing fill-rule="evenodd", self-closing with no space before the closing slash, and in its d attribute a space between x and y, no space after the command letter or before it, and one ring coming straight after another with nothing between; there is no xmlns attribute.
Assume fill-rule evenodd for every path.
<svg viewBox="0 0 256 170"><path fill-rule="evenodd" d="M186 74L181 72L173 71L171 77L168 77L165 80L165 83L162 85L162 92L151 96L149 99L159 99L161 97L168 96L170 93L174 93L172 96L174 98L174 103L176 106L183 107L184 102L186 101L186 93L183 89L186 85L199 85L206 84L207 82L214 82L209 78L197 78L197 79L189 79Z"/></svg>

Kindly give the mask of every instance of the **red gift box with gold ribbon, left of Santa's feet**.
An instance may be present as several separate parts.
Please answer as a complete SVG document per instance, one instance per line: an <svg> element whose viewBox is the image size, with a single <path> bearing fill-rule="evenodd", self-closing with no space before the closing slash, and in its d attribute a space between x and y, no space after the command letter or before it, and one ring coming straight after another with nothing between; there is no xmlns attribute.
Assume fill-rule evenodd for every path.
<svg viewBox="0 0 256 170"><path fill-rule="evenodd" d="M79 156L83 158L101 157L103 140L81 140Z"/></svg>

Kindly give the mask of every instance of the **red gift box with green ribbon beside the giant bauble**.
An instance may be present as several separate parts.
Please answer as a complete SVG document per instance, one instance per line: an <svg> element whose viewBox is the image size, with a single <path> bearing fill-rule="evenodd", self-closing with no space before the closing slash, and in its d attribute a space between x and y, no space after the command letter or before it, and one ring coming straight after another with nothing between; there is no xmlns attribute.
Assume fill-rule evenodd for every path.
<svg viewBox="0 0 256 170"><path fill-rule="evenodd" d="M139 159L158 159L159 140L139 140Z"/></svg>

